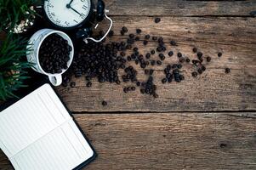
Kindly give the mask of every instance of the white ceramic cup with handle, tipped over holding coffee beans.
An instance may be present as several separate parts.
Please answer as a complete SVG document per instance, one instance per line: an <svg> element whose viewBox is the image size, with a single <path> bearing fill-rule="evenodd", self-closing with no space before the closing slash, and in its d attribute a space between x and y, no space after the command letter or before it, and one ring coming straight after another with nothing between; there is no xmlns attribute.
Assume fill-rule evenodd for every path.
<svg viewBox="0 0 256 170"><path fill-rule="evenodd" d="M67 62L67 67L69 68L71 66L71 62L74 58L74 46L71 41L71 38L68 37L64 32L62 31L56 31L52 29L42 29L37 31L30 39L29 44L27 45L27 53L26 58L29 63L32 64L32 69L34 71L37 71L39 73L42 73L44 75L48 76L49 81L54 86L59 86L62 83L62 74L67 70L62 70L61 73L58 74L51 74L48 72L43 71L43 68L41 67L39 63L39 49L41 47L41 44L43 43L43 40L48 37L51 34L58 34L61 37L63 37L65 40L67 40L68 44L71 46L71 54L70 54L70 60Z"/></svg>

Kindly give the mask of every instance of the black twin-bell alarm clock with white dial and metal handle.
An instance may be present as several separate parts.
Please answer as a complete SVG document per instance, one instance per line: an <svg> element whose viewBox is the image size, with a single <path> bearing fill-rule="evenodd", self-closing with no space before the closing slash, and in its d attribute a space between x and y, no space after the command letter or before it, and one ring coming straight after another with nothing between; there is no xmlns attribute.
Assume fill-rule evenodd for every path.
<svg viewBox="0 0 256 170"><path fill-rule="evenodd" d="M92 0L45 0L43 3L43 11L52 26L63 31L76 30L77 37L83 37L85 41L92 39L100 42L111 30L112 20L105 14L108 11L105 10L105 3L102 0L98 0L96 7L94 8ZM92 22L91 18L95 18L97 22L110 20L111 26L100 40L89 37L92 29L83 27L88 22ZM94 27L97 26L98 24Z"/></svg>

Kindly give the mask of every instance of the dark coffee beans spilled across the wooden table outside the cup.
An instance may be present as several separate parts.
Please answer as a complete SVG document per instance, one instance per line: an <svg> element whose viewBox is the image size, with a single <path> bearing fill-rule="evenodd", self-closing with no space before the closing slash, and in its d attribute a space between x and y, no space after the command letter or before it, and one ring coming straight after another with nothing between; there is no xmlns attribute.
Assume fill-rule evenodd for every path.
<svg viewBox="0 0 256 170"><path fill-rule="evenodd" d="M156 18L155 22L159 23L160 18ZM154 67L160 66L168 58L176 55L177 61L174 64L165 65L161 82L182 82L185 80L183 75L183 68L185 65L189 65L193 71L192 77L198 77L204 71L206 71L206 65L212 61L210 56L202 54L202 51L196 47L191 49L191 54L196 57L192 59L187 55L178 52L174 55L174 51L168 50L169 46L178 46L179 44L174 40L164 41L162 37L156 37L151 35L142 35L141 29L136 29L134 32L129 32L128 28L123 26L120 35L126 36L126 41L121 42L88 42L83 44L74 58L71 65L71 69L65 74L63 86L67 86L67 83L71 81L71 76L85 77L86 86L90 88L92 86L92 79L98 79L98 82L115 82L120 84L121 81L125 83L132 83L134 85L125 86L123 92L133 92L139 88L141 94L148 94L154 98L158 98L156 93L156 80L154 78ZM100 35L104 32L100 31ZM111 31L109 38L115 35L114 31ZM139 53L139 48L135 45L135 42L142 42L146 46L149 42L156 43L156 48L150 49L144 54ZM145 50L144 50L145 51ZM167 53L166 53L167 52ZM166 54L166 55L165 55ZM222 56L222 53L217 54L218 57ZM146 81L138 80L138 71L130 65L134 62L135 65L139 65L144 70ZM166 63L166 62L164 62ZM118 77L118 70L123 70L122 75ZM225 69L226 73L229 73L229 69ZM119 72L120 73L120 72ZM121 81L120 81L121 78ZM74 86L71 82L71 87ZM137 88L136 88L136 87ZM102 103L103 105L103 103Z"/></svg>

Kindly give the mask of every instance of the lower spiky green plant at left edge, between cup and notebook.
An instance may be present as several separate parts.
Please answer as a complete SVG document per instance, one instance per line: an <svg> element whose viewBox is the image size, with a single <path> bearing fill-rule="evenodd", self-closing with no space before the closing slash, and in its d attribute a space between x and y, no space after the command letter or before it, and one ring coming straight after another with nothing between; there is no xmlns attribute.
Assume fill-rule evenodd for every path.
<svg viewBox="0 0 256 170"><path fill-rule="evenodd" d="M0 100L17 97L14 92L24 87L28 78L26 68L27 40L9 34L0 47Z"/></svg>

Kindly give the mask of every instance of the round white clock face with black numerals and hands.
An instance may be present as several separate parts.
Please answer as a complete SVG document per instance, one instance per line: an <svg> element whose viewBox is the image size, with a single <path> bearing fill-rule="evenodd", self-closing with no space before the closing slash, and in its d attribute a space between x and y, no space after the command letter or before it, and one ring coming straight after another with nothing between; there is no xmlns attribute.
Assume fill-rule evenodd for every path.
<svg viewBox="0 0 256 170"><path fill-rule="evenodd" d="M45 0L44 10L48 19L56 26L72 28L87 19L90 0Z"/></svg>

